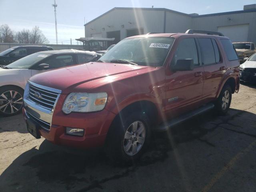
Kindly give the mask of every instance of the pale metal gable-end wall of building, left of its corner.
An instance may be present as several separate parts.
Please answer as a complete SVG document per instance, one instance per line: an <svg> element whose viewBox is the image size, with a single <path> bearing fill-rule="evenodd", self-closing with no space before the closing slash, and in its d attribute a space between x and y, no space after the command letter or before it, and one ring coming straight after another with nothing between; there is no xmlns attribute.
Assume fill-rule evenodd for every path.
<svg viewBox="0 0 256 192"><path fill-rule="evenodd" d="M121 26L124 25L124 28ZM102 30L105 28L105 30ZM143 28L144 33L163 32L164 11L160 10L113 10L108 14L98 18L94 22L86 25L86 37L93 34L102 33L106 37L106 32L120 30L121 40L126 38L127 29Z"/></svg>

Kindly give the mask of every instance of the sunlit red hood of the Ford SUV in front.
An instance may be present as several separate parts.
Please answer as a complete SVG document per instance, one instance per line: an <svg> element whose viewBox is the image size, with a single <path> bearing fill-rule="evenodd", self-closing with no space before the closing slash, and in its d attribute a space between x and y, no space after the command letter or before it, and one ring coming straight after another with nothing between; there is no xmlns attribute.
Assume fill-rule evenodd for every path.
<svg viewBox="0 0 256 192"><path fill-rule="evenodd" d="M116 78L140 74L154 68L130 64L90 62L37 74L30 78L30 81L62 90L63 94L68 94L78 86L81 88L80 85L82 84L81 92L103 83L102 79L105 82L113 81Z"/></svg>

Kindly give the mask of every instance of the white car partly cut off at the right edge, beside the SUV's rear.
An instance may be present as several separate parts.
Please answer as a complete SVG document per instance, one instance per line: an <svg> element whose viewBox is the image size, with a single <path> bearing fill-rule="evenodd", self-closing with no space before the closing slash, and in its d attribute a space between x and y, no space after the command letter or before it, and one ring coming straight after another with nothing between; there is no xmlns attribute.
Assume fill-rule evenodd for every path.
<svg viewBox="0 0 256 192"><path fill-rule="evenodd" d="M244 58L246 62L240 65L240 80L256 83L256 53L250 58Z"/></svg>

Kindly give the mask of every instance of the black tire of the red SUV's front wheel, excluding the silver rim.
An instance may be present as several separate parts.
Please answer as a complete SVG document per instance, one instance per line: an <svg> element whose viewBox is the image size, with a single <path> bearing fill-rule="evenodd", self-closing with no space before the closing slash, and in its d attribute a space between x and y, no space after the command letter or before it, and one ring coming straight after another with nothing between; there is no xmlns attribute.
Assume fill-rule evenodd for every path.
<svg viewBox="0 0 256 192"><path fill-rule="evenodd" d="M108 131L108 136L105 144L105 152L113 163L129 165L140 158L150 142L150 121L148 119L148 116L146 114L143 114L142 112L134 112L133 114L126 116L123 115L122 121L120 119L116 119L110 127L110 130ZM131 128L130 126L134 122L138 122L138 130L139 127L142 126L142 124L144 125L145 139L143 145L138 150L138 152L136 152L136 154L128 155L128 152L125 152L124 150L125 142L127 142L126 144L128 144L128 142L138 142L137 140L132 141L134 140L134 138L130 140L124 138L126 131ZM142 135L140 134L140 136ZM139 143L136 143L136 145L138 146ZM131 150L132 148L133 144Z"/></svg>

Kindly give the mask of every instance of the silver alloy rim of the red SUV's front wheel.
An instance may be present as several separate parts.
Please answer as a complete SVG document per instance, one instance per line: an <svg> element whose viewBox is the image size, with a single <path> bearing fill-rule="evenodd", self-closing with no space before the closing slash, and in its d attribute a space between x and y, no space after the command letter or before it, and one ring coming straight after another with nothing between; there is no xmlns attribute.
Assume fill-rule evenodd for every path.
<svg viewBox="0 0 256 192"><path fill-rule="evenodd" d="M130 124L124 134L124 152L130 156L137 154L145 142L145 136L146 128L144 123L141 121L135 121Z"/></svg>

